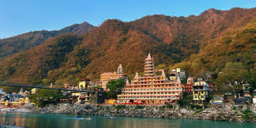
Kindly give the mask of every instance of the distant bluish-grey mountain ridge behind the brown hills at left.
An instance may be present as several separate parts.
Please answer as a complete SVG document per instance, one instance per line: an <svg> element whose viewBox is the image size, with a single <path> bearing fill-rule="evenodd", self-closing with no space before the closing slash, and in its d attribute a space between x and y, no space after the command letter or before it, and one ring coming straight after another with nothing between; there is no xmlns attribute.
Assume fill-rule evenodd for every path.
<svg viewBox="0 0 256 128"><path fill-rule="evenodd" d="M88 30L93 29L94 26L87 22L81 24L74 24L72 26L66 26L61 30L40 30L28 32L25 34L19 34L11 38L0 39L0 58L4 58L8 55L18 53L19 51L30 50L34 46L40 45L47 38L53 38L58 34L84 34Z"/></svg>

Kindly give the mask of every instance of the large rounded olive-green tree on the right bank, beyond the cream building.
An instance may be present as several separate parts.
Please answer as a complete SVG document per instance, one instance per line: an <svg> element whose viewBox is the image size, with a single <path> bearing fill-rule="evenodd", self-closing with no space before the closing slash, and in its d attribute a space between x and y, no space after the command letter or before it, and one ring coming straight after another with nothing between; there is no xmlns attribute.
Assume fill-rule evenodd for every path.
<svg viewBox="0 0 256 128"><path fill-rule="evenodd" d="M218 74L216 82L218 84L218 90L236 90L237 92L242 90L242 83L246 80L246 75L248 71L242 65L241 62L228 62L226 66ZM234 87L229 87L227 85L232 85Z"/></svg>

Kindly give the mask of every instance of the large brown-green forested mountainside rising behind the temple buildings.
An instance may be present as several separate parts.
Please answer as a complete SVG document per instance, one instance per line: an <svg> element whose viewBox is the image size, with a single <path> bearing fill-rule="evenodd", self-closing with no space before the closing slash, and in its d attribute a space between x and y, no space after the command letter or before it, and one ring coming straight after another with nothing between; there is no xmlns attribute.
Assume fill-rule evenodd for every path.
<svg viewBox="0 0 256 128"><path fill-rule="evenodd" d="M157 67L168 71L180 67L187 75L218 83L219 89L237 81L230 77L235 75L253 89L255 41L256 8L210 9L187 18L112 19L85 34L60 34L30 50L1 58L0 81L76 84L81 78L95 79L102 72L112 72L120 63L132 78L135 72L142 72L143 60L150 52Z"/></svg>

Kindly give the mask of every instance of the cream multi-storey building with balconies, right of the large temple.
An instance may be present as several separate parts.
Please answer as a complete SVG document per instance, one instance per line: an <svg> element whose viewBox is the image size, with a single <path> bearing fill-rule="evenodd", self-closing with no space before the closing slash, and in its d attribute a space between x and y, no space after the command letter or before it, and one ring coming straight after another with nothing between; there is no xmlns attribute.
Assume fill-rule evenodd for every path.
<svg viewBox="0 0 256 128"><path fill-rule="evenodd" d="M209 82L206 81L198 81L194 82L194 86L192 86L193 91L193 102L195 104L203 104L206 102L206 98L210 93Z"/></svg>

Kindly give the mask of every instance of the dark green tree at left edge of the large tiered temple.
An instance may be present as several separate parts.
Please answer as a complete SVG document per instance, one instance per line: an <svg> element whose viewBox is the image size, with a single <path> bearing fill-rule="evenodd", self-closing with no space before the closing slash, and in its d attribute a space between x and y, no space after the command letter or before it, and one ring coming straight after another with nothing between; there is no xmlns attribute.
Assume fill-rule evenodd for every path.
<svg viewBox="0 0 256 128"><path fill-rule="evenodd" d="M122 79L111 80L106 83L106 89L110 90L107 92L107 98L116 98L118 94L121 94L122 87L126 85Z"/></svg>

